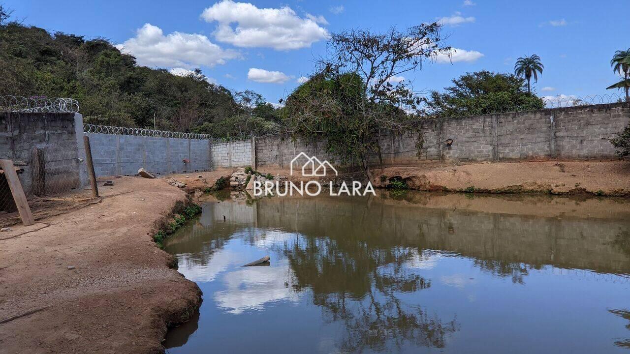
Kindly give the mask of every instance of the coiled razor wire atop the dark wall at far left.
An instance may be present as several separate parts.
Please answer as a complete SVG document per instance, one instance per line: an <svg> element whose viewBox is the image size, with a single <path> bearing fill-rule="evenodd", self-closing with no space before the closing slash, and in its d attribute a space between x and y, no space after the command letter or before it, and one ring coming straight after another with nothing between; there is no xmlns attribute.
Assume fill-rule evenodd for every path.
<svg viewBox="0 0 630 354"><path fill-rule="evenodd" d="M79 102L72 98L45 96L0 96L0 111L23 113L77 113Z"/></svg>

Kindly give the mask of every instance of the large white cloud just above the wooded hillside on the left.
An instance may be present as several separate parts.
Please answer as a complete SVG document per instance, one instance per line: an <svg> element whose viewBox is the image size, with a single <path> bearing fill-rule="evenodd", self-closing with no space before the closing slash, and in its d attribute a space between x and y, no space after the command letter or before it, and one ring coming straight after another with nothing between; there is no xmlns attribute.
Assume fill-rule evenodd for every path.
<svg viewBox="0 0 630 354"><path fill-rule="evenodd" d="M135 37L116 47L134 55L138 64L151 67L212 67L240 57L238 52L221 49L204 35L173 32L165 36L161 28L150 23L145 23Z"/></svg>

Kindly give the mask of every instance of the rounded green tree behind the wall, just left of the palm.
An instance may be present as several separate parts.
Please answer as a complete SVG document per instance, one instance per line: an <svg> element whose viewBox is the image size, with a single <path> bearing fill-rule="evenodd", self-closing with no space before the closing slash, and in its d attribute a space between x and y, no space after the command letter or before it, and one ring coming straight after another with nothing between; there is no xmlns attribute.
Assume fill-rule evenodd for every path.
<svg viewBox="0 0 630 354"><path fill-rule="evenodd" d="M453 79L444 93L431 91L426 113L432 117L461 117L540 110L544 102L529 93L525 79L490 71L467 72Z"/></svg>

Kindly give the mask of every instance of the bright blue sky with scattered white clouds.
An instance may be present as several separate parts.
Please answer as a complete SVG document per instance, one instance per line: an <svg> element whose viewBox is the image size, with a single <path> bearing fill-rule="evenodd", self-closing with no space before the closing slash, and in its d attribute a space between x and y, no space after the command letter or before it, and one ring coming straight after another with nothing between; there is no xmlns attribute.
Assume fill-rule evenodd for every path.
<svg viewBox="0 0 630 354"><path fill-rule="evenodd" d="M201 67L215 82L253 89L270 102L311 73L313 57L325 52L325 33L347 28L384 31L443 19L447 44L460 49L457 61L405 74L416 91L442 89L467 71L512 72L517 57L538 54L545 66L535 85L540 96L621 94L605 90L619 79L610 58L630 47L627 0L0 3L26 25L108 38L148 66Z"/></svg>

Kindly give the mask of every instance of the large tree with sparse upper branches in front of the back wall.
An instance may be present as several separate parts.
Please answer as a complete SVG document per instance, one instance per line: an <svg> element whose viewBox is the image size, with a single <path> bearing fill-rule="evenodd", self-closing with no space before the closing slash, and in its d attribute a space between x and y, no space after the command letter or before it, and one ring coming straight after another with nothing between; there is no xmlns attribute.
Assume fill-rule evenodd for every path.
<svg viewBox="0 0 630 354"><path fill-rule="evenodd" d="M311 79L287 98L289 129L303 139L323 138L329 153L359 162L372 180L369 157L380 151L379 132L408 127L406 111L417 110L422 101L401 75L452 52L441 29L430 23L385 33L333 33L328 57L319 59Z"/></svg>

